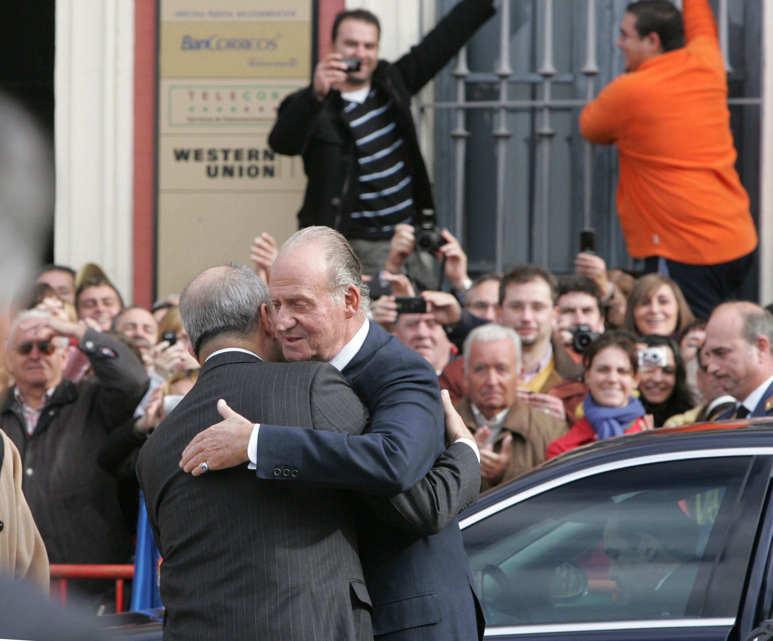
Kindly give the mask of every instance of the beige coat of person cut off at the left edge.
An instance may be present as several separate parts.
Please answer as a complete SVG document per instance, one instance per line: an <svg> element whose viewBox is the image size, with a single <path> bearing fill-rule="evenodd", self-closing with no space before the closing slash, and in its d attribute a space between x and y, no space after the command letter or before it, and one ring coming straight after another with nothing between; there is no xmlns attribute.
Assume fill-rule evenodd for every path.
<svg viewBox="0 0 773 641"><path fill-rule="evenodd" d="M22 458L5 432L0 466L0 573L49 591L46 546L22 494Z"/></svg>

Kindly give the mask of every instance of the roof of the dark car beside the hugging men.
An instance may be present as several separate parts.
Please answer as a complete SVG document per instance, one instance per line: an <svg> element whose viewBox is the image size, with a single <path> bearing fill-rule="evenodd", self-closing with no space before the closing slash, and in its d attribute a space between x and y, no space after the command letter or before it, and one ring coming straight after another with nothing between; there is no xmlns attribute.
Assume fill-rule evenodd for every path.
<svg viewBox="0 0 773 641"><path fill-rule="evenodd" d="M551 477L560 477L565 473L591 467L598 463L667 452L738 447L773 448L773 419L765 417L734 419L694 423L693 425L673 428L658 428L648 432L625 434L572 449L537 466L521 477L482 493L478 504L465 510L460 519L513 493L543 483Z"/></svg>

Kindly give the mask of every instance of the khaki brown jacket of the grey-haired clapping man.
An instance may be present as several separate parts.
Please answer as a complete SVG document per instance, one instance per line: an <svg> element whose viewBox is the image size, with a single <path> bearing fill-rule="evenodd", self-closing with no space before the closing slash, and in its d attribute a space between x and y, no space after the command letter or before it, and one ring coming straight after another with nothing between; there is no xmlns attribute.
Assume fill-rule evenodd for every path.
<svg viewBox="0 0 773 641"><path fill-rule="evenodd" d="M469 396L465 395L455 405L455 408L465 425L474 433L478 426L475 423L475 415L472 414ZM547 446L564 436L568 431L569 426L566 421L555 419L539 409L526 405L520 399L516 399L505 419L502 431L499 432L496 443L494 443L494 451L499 452L502 449L502 439L505 438L507 432L512 434L510 465L499 483L492 484L486 480L481 480L481 491L490 490L495 485L506 483L506 481L519 477L543 463Z"/></svg>

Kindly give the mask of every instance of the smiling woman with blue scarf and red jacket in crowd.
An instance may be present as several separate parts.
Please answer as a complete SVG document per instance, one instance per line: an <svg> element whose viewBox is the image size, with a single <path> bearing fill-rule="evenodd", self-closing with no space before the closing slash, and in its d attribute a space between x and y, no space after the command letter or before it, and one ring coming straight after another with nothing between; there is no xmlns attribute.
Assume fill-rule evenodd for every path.
<svg viewBox="0 0 773 641"><path fill-rule="evenodd" d="M583 357L585 385L584 418L569 433L547 447L547 458L594 441L652 429L652 416L633 395L638 386L636 345L626 334L604 334Z"/></svg>

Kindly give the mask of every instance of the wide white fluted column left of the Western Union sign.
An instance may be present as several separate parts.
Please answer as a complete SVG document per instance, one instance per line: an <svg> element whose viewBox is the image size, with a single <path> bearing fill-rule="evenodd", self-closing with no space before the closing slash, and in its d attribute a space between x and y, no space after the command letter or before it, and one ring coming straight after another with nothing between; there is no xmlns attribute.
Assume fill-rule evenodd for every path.
<svg viewBox="0 0 773 641"><path fill-rule="evenodd" d="M54 255L74 269L100 264L127 302L134 29L134 0L56 0Z"/></svg>

